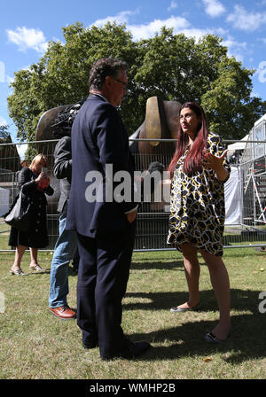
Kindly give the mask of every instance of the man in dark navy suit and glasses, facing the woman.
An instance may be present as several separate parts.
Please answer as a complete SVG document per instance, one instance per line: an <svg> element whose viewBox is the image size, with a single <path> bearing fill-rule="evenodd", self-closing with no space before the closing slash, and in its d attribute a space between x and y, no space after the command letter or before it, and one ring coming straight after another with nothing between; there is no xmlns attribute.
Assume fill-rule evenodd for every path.
<svg viewBox="0 0 266 397"><path fill-rule="evenodd" d="M78 235L77 323L83 346L99 346L103 360L132 359L150 347L148 342L131 342L121 329L121 300L129 279L137 217L133 199L113 197L117 187L113 175L121 171L130 177L127 197L134 193L134 160L116 109L126 93L127 68L113 58L94 63L90 96L72 128L73 174L66 227ZM107 175L107 167L113 175Z"/></svg>

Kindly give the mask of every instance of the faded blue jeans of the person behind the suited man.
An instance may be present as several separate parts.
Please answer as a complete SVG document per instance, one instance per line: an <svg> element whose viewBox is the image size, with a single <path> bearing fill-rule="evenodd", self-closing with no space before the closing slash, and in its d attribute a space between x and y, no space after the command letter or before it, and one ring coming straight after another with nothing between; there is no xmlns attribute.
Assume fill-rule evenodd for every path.
<svg viewBox="0 0 266 397"><path fill-rule="evenodd" d="M68 264L74 258L77 235L66 230L66 213L59 216L59 238L51 261L49 307L66 306L68 289Z"/></svg>

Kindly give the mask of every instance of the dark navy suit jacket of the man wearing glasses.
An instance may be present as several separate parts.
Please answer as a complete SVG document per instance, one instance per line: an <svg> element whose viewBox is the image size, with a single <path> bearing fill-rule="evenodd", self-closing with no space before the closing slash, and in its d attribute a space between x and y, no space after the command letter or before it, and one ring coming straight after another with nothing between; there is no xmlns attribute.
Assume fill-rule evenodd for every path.
<svg viewBox="0 0 266 397"><path fill-rule="evenodd" d="M73 167L66 229L88 237L126 230L129 222L125 213L136 204L132 199L106 202L106 164L113 164L113 174L121 170L129 172L131 195L134 194L134 160L120 114L104 97L90 95L74 120L71 140ZM98 171L103 178L95 191L99 196L103 192L102 202L89 202L85 197L86 189L95 183L88 181L87 173L91 171Z"/></svg>

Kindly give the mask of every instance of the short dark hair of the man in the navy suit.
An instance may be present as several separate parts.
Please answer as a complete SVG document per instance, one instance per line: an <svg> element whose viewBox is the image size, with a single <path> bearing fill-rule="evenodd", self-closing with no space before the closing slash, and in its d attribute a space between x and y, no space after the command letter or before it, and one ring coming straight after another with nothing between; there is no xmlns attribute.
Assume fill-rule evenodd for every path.
<svg viewBox="0 0 266 397"><path fill-rule="evenodd" d="M127 62L115 58L101 58L94 62L90 69L90 90L100 90L106 80L106 76L120 77L119 71L127 71Z"/></svg>

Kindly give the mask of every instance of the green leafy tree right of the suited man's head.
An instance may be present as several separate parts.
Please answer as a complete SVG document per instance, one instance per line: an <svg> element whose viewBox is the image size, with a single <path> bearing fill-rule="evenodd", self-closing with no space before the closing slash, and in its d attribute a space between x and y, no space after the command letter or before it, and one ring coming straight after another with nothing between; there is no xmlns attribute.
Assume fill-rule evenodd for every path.
<svg viewBox="0 0 266 397"><path fill-rule="evenodd" d="M153 95L197 101L206 110L210 130L227 139L245 136L266 112L266 103L251 97L254 71L228 58L218 36L205 35L196 43L162 28L160 35L141 44L144 60L135 77L143 87L143 106Z"/></svg>

